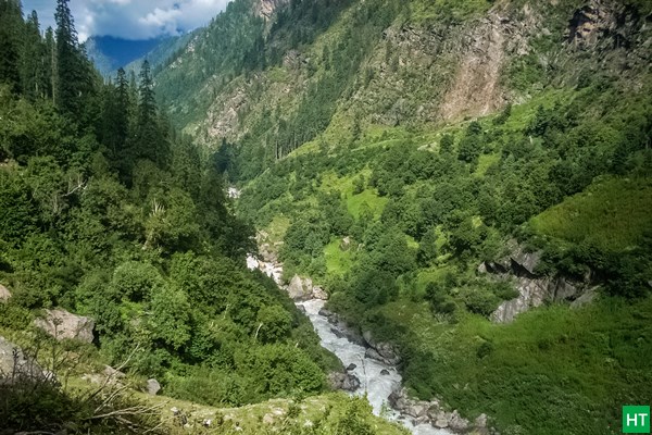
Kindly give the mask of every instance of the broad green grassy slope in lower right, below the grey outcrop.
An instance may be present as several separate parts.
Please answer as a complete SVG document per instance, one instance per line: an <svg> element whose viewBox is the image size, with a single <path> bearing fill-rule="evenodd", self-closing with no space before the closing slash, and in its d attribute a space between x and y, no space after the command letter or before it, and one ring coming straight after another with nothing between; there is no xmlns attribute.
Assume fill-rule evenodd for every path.
<svg viewBox="0 0 652 435"><path fill-rule="evenodd" d="M622 405L652 400L652 297L551 306L511 324L471 314L441 323L427 303L406 300L380 312L413 355L409 387L471 418L486 412L501 432L610 434Z"/></svg>

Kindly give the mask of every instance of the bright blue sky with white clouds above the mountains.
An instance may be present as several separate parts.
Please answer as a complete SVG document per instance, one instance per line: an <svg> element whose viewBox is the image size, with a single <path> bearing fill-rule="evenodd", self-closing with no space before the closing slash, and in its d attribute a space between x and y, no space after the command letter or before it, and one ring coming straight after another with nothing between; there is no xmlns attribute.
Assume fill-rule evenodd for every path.
<svg viewBox="0 0 652 435"><path fill-rule="evenodd" d="M79 42L89 36L149 39L208 24L229 0L71 0ZM57 0L23 0L25 16L38 13L41 30L54 28Z"/></svg>

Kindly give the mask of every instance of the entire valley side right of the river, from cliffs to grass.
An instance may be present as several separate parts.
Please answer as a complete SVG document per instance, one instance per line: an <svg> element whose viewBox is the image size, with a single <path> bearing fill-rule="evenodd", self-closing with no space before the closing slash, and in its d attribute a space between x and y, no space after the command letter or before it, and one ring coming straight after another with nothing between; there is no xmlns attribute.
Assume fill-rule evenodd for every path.
<svg viewBox="0 0 652 435"><path fill-rule="evenodd" d="M155 83L262 253L393 344L412 395L606 434L652 398L651 12L241 0Z"/></svg>

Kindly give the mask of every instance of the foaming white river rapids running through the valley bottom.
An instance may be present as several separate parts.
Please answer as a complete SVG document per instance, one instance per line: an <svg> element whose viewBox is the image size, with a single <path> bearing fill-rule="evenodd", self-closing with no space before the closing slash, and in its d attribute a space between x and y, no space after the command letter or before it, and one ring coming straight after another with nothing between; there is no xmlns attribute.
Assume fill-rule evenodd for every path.
<svg viewBox="0 0 652 435"><path fill-rule="evenodd" d="M274 278L280 286L283 269L279 265L249 257L247 259L247 266L249 269L260 269L267 276ZM297 302L297 306L305 309L305 314L319 336L322 346L335 353L344 366L355 364L355 369L349 371L349 373L360 380L360 388L353 394L364 395L366 391L367 400L372 405L376 415L383 415L391 421L400 421L413 434L451 435L450 431L436 428L427 423L413 425L409 415L403 415L389 407L389 395L393 390L401 388L401 375L397 371L397 368L375 359L366 358L366 349L363 346L350 341L343 331L328 322L326 316L319 314L319 310L325 303L321 299L311 299ZM341 334L335 334L334 331L341 332ZM389 374L380 374L384 370L389 372Z"/></svg>

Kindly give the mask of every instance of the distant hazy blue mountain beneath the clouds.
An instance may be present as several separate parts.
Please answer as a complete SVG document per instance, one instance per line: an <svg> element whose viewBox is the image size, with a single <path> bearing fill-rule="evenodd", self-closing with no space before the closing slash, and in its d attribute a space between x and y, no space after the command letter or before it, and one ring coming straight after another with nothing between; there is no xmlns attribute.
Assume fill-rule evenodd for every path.
<svg viewBox="0 0 652 435"><path fill-rule="evenodd" d="M153 50L171 38L128 40L113 36L91 36L85 42L86 52L102 75L111 75L121 66Z"/></svg>

